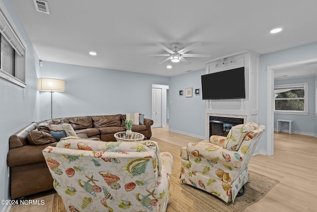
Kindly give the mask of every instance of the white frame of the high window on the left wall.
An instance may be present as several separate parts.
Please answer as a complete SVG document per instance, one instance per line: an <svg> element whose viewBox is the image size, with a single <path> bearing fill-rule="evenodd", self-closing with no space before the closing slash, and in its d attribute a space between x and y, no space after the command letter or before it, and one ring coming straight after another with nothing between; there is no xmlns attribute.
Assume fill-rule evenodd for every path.
<svg viewBox="0 0 317 212"><path fill-rule="evenodd" d="M13 48L13 61L16 59L15 55L18 54L20 57L24 59L24 64L23 64L23 70L13 70L13 75L3 71L0 69L0 77L11 81L23 88L26 87L25 83L25 63L26 63L26 58L25 58L25 52L26 52L26 44L20 35L19 31L17 30L13 20L11 19L9 13L5 9L4 4L2 1L0 1L0 22L1 22L1 27L0 27L0 34L3 36L3 38L10 44L10 46ZM14 63L13 63L14 66ZM14 75L17 74L19 78L15 77ZM16 76L17 76L16 75ZM22 81L22 80L24 81Z"/></svg>

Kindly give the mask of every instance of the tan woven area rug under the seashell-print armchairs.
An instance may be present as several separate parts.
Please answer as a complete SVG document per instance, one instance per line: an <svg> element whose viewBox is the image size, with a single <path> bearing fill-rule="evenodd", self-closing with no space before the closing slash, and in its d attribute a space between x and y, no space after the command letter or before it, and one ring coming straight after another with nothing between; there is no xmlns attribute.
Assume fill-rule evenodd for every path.
<svg viewBox="0 0 317 212"><path fill-rule="evenodd" d="M225 203L208 192L187 184L180 183L180 147L151 138L159 143L159 150L172 153L174 164L169 199L166 212L241 212L251 204L257 202L279 181L262 174L250 171L251 180L245 185L244 195L237 197L234 203ZM66 212L61 198L54 195L53 212Z"/></svg>

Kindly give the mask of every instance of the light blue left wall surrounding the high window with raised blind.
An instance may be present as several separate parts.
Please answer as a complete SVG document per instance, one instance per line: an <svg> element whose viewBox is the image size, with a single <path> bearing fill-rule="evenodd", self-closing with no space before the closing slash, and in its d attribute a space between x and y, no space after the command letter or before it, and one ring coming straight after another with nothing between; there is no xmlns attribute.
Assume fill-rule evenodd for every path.
<svg viewBox="0 0 317 212"><path fill-rule="evenodd" d="M38 114L37 95L39 59L12 2L10 0L2 0L2 2L27 45L25 54L27 87L22 88L0 77L0 199L7 200L9 199L9 178L6 165L9 151L8 139L12 134L41 117ZM0 211L3 208L4 206L0 205Z"/></svg>

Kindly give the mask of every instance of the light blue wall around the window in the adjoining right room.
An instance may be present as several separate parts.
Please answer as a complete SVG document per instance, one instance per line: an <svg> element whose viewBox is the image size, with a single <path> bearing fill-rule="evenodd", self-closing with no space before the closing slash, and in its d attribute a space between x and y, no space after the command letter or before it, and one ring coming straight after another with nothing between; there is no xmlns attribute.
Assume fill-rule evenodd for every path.
<svg viewBox="0 0 317 212"><path fill-rule="evenodd" d="M300 71L300 70L298 70ZM308 82L308 115L274 114L274 129L277 128L276 120L286 119L294 121L294 131L303 135L313 136L315 125L315 77L303 77L285 80L275 80L274 85ZM287 124L287 126L285 126ZM282 123L281 130L288 131L288 123Z"/></svg>

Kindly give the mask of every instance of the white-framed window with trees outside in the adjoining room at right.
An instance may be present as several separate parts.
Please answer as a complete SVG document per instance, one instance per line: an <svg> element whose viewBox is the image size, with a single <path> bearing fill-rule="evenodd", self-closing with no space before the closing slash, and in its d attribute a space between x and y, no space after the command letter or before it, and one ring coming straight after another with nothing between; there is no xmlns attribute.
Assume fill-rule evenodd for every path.
<svg viewBox="0 0 317 212"><path fill-rule="evenodd" d="M308 82L274 86L274 111L308 113Z"/></svg>

